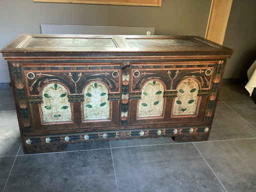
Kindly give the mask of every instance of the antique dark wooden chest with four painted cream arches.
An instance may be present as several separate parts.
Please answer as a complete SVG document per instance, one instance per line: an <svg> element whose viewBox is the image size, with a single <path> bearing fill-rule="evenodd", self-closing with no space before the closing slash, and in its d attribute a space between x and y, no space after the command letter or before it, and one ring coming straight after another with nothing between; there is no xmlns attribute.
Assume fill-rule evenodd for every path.
<svg viewBox="0 0 256 192"><path fill-rule="evenodd" d="M41 34L21 34L1 52L25 153L110 139L207 140L232 54L198 36Z"/></svg>

